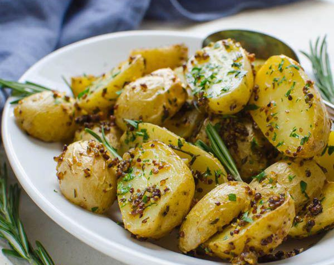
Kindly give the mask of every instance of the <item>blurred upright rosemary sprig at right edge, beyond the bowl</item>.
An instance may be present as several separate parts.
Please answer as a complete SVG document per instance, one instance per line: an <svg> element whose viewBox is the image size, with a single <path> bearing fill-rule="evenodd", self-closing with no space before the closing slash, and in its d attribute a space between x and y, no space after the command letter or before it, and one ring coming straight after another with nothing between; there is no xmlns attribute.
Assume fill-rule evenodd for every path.
<svg viewBox="0 0 334 265"><path fill-rule="evenodd" d="M322 97L334 102L334 83L331 71L331 64L327 53L326 35L320 40L318 37L312 45L310 41L310 53L301 51L312 63L313 73L316 78L316 85L320 90Z"/></svg>

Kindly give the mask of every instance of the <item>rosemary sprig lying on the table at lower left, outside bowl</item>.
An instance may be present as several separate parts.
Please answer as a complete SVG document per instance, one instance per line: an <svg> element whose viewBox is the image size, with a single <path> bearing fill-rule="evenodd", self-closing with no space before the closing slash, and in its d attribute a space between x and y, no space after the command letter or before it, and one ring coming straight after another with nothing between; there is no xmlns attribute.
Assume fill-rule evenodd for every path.
<svg viewBox="0 0 334 265"><path fill-rule="evenodd" d="M0 235L8 241L11 249L2 249L3 254L27 260L31 265L54 265L42 244L36 241L34 249L27 239L19 219L20 188L17 184L7 189L7 167L0 173Z"/></svg>

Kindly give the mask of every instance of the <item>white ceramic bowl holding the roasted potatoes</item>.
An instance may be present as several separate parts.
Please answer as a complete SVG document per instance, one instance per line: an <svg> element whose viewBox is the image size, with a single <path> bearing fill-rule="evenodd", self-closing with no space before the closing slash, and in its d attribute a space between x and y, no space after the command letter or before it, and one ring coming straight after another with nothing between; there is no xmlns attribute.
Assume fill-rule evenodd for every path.
<svg viewBox="0 0 334 265"><path fill-rule="evenodd" d="M181 32L135 31L102 35L61 48L33 65L19 81L33 81L67 91L61 76L101 74L127 58L133 48L185 43L192 54L201 38ZM10 100L9 100L10 101ZM88 245L120 261L136 265L211 265L217 261L198 259L177 252L175 234L155 242L138 241L116 224L120 220L117 203L110 215L102 216L68 202L58 191L53 157L61 152L60 143L44 143L23 133L15 124L13 107L7 101L2 117L2 139L9 162L23 188L34 202L56 223ZM311 241L290 242L289 247ZM305 252L274 264L334 264L334 231ZM219 262L221 264L221 262ZM273 263L271 263L273 264Z"/></svg>

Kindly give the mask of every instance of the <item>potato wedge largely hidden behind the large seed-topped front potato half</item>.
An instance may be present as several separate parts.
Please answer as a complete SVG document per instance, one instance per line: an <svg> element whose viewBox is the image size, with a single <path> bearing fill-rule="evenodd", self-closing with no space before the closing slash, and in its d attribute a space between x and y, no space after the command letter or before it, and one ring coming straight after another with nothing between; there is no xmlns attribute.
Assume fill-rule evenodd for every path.
<svg viewBox="0 0 334 265"><path fill-rule="evenodd" d="M158 140L170 145L175 153L187 161L195 179L195 198L200 199L216 185L227 181L224 167L213 155L186 142L183 138L151 123L139 123L137 128L130 128L121 137L120 153L143 142Z"/></svg>

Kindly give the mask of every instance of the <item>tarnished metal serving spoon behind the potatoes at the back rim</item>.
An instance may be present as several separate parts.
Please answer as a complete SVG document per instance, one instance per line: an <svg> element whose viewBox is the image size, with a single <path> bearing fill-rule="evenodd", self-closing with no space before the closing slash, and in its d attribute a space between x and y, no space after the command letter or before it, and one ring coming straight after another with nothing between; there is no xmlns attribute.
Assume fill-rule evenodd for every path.
<svg viewBox="0 0 334 265"><path fill-rule="evenodd" d="M267 60L270 56L284 54L299 62L295 51L283 41L270 35L250 30L231 29L214 32L203 40L202 47L207 46L210 42L228 38L240 42L246 51L255 53L257 59ZM326 100L323 101L330 117L334 120L334 105Z"/></svg>

